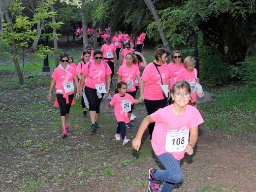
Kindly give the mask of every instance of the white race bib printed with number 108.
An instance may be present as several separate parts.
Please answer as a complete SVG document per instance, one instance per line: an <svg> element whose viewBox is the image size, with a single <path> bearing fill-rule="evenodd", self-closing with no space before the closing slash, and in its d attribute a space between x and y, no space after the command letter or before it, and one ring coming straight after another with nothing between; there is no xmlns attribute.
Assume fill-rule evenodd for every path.
<svg viewBox="0 0 256 192"><path fill-rule="evenodd" d="M181 152L189 144L190 129L179 132L167 132L165 150L167 152Z"/></svg>

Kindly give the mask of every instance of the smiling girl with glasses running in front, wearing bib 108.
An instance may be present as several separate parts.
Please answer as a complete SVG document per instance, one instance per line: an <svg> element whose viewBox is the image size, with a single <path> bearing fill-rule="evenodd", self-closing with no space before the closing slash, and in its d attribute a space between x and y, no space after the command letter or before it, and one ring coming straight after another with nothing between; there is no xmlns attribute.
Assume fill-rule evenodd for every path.
<svg viewBox="0 0 256 192"><path fill-rule="evenodd" d="M193 154L198 138L198 125L203 123L199 111L191 105L191 88L186 81L177 81L172 87L172 103L147 116L141 123L132 147L139 150L141 138L150 123L156 122L152 136L152 148L165 170L149 170L149 191L170 192L175 183L183 180L180 160L185 152ZM189 139L190 136L190 139Z"/></svg>

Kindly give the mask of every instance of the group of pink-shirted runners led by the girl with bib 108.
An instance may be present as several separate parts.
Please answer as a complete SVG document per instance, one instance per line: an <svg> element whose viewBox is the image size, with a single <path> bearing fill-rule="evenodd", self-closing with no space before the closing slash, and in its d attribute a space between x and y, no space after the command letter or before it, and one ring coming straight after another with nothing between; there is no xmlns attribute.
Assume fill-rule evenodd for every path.
<svg viewBox="0 0 256 192"><path fill-rule="evenodd" d="M160 181L163 180L161 192L170 192L174 184L183 179L180 160L185 153L193 154L193 146L198 138L198 125L203 123L195 107L195 85L199 83L194 68L195 61L191 56L184 59L180 51L174 51L171 63L167 64L170 53L159 48L154 54L155 60L147 64L138 46L140 44L136 43L136 47L132 49L129 40L126 40L125 47L120 47L121 42L124 42L124 34L122 38L119 38L119 32L115 32L115 36L111 36L109 31L106 34L103 36L106 44L101 50L93 51L90 44L86 45L82 61L77 66L68 54L60 55L61 64L51 76L48 101L51 101L56 84L54 105L60 106L62 136L67 136L67 118L70 106L74 104L73 81L77 90L75 97L82 97L82 117L87 116L86 110L89 108L91 131L98 131L100 102L102 98L109 96L114 67L119 66L115 95L107 109L103 109L110 110L114 105L118 122L114 138L121 140L122 137L123 145L130 141L126 128L132 128L130 120L135 117L132 115L133 104L144 102L148 116L142 121L132 147L139 150L142 135L148 128L152 148L165 167L165 170L149 170L149 191L159 192ZM143 43L142 37L136 41ZM123 48L120 62L117 46L120 48L118 52ZM144 68L142 75L140 68ZM135 99L138 90L140 96Z"/></svg>

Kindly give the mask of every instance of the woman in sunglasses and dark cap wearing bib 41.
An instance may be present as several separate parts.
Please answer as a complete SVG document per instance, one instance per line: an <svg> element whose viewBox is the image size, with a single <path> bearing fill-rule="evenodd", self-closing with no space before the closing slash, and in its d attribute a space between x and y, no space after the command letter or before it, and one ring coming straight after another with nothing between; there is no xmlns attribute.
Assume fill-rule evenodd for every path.
<svg viewBox="0 0 256 192"><path fill-rule="evenodd" d="M91 131L97 131L99 128L97 120L100 102L104 95L105 97L108 97L110 90L112 71L109 65L102 61L102 59L102 52L100 50L95 50L94 60L85 64L85 67L81 71L82 78L79 93L82 94L85 82L84 92L89 102L89 115L92 123Z"/></svg>

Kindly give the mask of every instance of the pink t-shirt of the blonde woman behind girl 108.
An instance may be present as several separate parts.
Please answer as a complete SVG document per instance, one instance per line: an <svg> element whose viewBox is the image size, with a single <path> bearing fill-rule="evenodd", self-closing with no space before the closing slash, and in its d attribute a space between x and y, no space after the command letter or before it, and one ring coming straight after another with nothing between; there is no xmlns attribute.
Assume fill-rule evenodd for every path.
<svg viewBox="0 0 256 192"><path fill-rule="evenodd" d="M197 75L197 70L195 69L195 71L196 71L196 75ZM196 80L195 80L194 71L190 72L186 68L181 69L178 72L178 75L176 78L176 81L179 81L179 80L185 80L190 84L191 93L192 93L191 102L192 103L195 102L196 101L196 93L195 93Z"/></svg>

